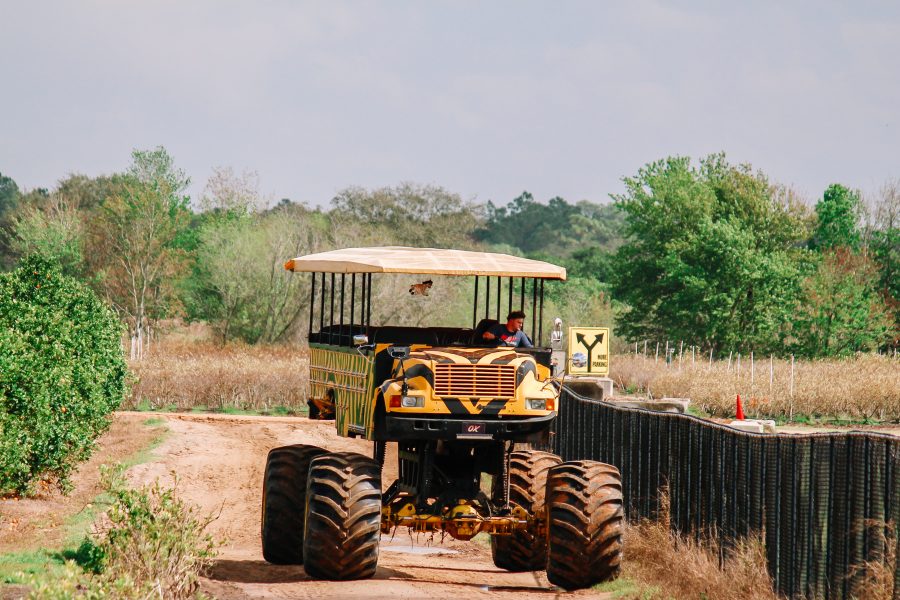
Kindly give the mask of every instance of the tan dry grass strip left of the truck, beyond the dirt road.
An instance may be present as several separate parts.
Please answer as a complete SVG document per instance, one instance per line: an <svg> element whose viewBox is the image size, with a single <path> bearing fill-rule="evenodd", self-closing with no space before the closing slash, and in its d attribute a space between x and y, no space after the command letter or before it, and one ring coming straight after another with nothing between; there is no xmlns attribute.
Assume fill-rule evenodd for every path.
<svg viewBox="0 0 900 600"><path fill-rule="evenodd" d="M297 347L163 341L129 363L123 408L305 411L308 360Z"/></svg>

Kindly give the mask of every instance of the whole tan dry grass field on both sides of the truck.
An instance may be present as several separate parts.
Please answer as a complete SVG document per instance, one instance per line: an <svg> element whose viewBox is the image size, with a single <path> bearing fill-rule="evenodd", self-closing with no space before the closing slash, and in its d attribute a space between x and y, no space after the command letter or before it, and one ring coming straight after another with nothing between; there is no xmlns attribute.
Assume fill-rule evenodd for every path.
<svg viewBox="0 0 900 600"><path fill-rule="evenodd" d="M131 361L132 394L123 408L302 414L307 361L306 350L294 346L163 341ZM715 417L732 417L740 394L753 417L900 422L900 360L884 356L796 361L793 387L790 360L768 357L754 357L751 366L749 357L710 364L686 353L667 366L622 354L611 365L616 393L690 398Z"/></svg>

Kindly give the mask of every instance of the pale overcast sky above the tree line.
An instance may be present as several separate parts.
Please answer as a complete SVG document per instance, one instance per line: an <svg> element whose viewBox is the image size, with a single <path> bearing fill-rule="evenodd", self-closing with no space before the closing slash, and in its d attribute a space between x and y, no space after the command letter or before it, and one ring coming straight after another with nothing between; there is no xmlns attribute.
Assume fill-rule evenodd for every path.
<svg viewBox="0 0 900 600"><path fill-rule="evenodd" d="M349 185L605 201L725 151L810 199L900 177L900 2L0 0L0 172L165 146L327 204Z"/></svg>

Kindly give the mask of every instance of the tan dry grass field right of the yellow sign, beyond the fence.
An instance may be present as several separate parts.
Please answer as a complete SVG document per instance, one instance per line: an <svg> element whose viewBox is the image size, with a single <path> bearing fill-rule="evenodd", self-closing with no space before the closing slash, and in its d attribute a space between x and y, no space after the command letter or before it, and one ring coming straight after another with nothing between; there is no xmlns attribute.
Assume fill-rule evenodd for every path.
<svg viewBox="0 0 900 600"><path fill-rule="evenodd" d="M706 360L704 360L704 358ZM666 366L652 356L614 356L610 376L624 391L654 398L690 398L701 410L719 417L734 415L740 394L748 416L790 418L796 415L879 422L900 421L900 361L878 355L844 360L797 361L791 395L790 360L750 357L713 361L690 353L676 354ZM771 368L770 368L771 365Z"/></svg>

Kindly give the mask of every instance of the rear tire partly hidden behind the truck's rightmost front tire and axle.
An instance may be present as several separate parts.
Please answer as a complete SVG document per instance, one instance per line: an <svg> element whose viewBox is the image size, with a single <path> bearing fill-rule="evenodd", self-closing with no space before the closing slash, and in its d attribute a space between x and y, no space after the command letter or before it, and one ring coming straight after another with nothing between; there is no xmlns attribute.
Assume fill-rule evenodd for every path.
<svg viewBox="0 0 900 600"><path fill-rule="evenodd" d="M519 450L509 458L509 500L529 514L544 515L547 471L562 459L550 452ZM503 478L494 479L494 503L502 502ZM535 531L491 536L494 564L507 571L543 571L547 566L547 538Z"/></svg>

